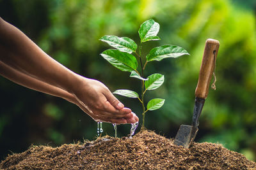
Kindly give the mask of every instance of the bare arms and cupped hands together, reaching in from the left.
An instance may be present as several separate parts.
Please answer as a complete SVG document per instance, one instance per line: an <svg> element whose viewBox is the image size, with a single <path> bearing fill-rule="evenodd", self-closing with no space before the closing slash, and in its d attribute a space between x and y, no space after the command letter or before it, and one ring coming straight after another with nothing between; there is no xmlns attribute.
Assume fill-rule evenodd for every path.
<svg viewBox="0 0 256 170"><path fill-rule="evenodd" d="M2 18L0 74L29 89L62 97L97 122L138 122L138 117L129 108L124 108L103 83L70 71Z"/></svg>

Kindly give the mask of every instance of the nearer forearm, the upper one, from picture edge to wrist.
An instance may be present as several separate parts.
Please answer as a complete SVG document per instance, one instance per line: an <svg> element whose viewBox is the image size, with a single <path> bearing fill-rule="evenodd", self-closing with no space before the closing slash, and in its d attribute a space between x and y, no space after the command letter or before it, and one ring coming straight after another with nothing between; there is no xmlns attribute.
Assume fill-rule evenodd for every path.
<svg viewBox="0 0 256 170"><path fill-rule="evenodd" d="M49 57L19 29L1 18L0 60L70 93L79 82L79 75Z"/></svg>

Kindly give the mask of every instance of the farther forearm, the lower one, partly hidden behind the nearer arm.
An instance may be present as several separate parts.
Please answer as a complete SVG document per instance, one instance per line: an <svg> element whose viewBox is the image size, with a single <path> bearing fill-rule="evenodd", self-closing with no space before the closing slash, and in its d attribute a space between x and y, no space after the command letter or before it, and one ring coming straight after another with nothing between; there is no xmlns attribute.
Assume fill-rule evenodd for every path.
<svg viewBox="0 0 256 170"><path fill-rule="evenodd" d="M65 90L49 85L43 81L37 80L36 78L28 76L27 74L21 73L20 71L13 69L12 67L4 64L1 61L0 74L19 85L28 87L29 89L44 92L52 96L61 97L72 103L77 103L74 96L72 96L72 94L66 92Z"/></svg>

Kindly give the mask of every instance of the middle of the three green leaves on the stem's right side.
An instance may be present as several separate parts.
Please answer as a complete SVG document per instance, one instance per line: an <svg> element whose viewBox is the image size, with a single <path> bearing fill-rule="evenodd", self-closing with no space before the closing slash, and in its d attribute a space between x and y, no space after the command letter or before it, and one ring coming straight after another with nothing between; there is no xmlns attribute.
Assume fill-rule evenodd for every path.
<svg viewBox="0 0 256 170"><path fill-rule="evenodd" d="M152 74L148 76L148 80L145 81L146 90L155 90L160 87L164 82L164 75L162 74Z"/></svg>

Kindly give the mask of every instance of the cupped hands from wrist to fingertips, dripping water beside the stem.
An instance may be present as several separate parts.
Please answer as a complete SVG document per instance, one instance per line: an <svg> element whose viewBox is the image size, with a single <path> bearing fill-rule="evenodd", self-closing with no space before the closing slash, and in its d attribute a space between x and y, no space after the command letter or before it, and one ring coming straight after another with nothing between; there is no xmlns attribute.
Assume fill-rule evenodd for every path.
<svg viewBox="0 0 256 170"><path fill-rule="evenodd" d="M97 122L133 124L139 120L100 81L80 76L74 97L79 102L77 106Z"/></svg>

